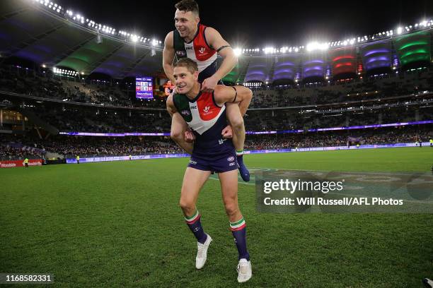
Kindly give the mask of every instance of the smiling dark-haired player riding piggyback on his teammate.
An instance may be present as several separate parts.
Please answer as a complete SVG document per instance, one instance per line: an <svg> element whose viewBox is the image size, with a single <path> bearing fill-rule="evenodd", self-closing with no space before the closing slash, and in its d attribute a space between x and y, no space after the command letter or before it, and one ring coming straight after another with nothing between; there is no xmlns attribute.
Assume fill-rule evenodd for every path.
<svg viewBox="0 0 433 288"><path fill-rule="evenodd" d="M224 78L238 61L230 44L221 37L217 30L200 23L199 6L194 0L182 0L175 4L175 30L169 32L164 40L163 68L169 80L173 77L173 61L190 58L197 63L199 69L198 82L200 90L212 92L217 83ZM222 58L217 69L217 54ZM224 133L233 134L233 144L238 158L238 169L243 181L250 181L250 172L243 163L243 144L245 142L245 126L243 115L237 104L226 105L226 116L229 121ZM176 143L182 141L187 126L180 115L173 115L171 136ZM180 145L180 144L179 144Z"/></svg>

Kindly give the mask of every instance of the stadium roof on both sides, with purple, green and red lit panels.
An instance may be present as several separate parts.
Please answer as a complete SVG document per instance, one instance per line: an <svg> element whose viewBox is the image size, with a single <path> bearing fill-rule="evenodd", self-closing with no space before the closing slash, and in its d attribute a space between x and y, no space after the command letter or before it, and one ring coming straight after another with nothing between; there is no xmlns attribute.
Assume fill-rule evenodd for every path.
<svg viewBox="0 0 433 288"><path fill-rule="evenodd" d="M100 25L46 0L3 0L1 57L17 56L76 77L115 79L162 71L161 42ZM429 65L432 21L375 35L294 49L236 49L226 83L308 83ZM233 44L233 43L232 43ZM233 44L234 46L235 44Z"/></svg>

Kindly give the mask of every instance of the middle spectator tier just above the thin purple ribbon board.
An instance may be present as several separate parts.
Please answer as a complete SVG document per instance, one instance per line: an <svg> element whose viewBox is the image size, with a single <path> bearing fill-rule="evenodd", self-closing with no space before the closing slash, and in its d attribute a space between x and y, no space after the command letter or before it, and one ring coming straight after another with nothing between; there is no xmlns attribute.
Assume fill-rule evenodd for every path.
<svg viewBox="0 0 433 288"><path fill-rule="evenodd" d="M251 110L244 116L246 131L308 130L308 128L348 127L433 120L431 104L398 107L378 102L371 107L335 107L329 111L301 109ZM402 106L403 105L403 106ZM31 128L43 123L63 132L168 133L171 118L166 111L125 111L96 107L69 107L59 104L28 104L25 108L3 111L4 130ZM25 125L22 120L24 119ZM41 124L42 123L42 124ZM6 128L5 128L6 127ZM43 126L42 126L43 127ZM22 129L24 130L24 129Z"/></svg>

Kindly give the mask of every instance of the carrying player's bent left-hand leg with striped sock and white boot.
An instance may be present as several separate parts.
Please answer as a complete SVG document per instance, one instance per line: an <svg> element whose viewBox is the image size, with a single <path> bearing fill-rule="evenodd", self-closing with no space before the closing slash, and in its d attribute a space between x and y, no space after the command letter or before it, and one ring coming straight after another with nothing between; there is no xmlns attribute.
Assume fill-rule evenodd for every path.
<svg viewBox="0 0 433 288"><path fill-rule="evenodd" d="M212 241L211 236L203 231L200 213L195 206L197 198L204 182L209 178L210 171L202 171L187 167L183 176L182 190L180 191L180 208L182 208L185 221L191 232L197 239L197 256L195 258L195 267L201 269L206 263L207 248Z"/></svg>

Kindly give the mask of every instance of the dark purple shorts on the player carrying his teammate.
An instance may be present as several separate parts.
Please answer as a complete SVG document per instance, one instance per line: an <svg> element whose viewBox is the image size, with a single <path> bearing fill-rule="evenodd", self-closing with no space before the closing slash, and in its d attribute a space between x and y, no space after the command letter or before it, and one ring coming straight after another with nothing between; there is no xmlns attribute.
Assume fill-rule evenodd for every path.
<svg viewBox="0 0 433 288"><path fill-rule="evenodd" d="M239 166L236 152L232 150L229 152L212 153L211 155L192 152L188 167L202 171L222 173L236 170Z"/></svg>

